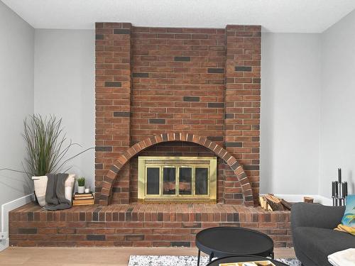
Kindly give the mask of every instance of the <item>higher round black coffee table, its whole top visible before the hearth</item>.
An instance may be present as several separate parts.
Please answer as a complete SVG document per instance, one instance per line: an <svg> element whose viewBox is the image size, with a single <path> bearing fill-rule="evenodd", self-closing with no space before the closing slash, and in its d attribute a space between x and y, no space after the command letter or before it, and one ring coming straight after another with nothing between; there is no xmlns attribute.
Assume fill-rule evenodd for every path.
<svg viewBox="0 0 355 266"><path fill-rule="evenodd" d="M273 240L266 234L242 227L207 228L196 235L199 249L197 266L200 265L201 251L213 257L233 255L258 255L273 258Z"/></svg>

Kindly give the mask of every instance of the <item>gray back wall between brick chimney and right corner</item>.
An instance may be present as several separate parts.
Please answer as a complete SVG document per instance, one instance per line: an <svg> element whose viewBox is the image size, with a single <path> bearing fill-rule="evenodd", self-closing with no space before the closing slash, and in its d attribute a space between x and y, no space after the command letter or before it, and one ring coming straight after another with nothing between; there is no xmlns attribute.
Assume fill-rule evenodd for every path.
<svg viewBox="0 0 355 266"><path fill-rule="evenodd" d="M263 33L261 193L317 194L320 34Z"/></svg>

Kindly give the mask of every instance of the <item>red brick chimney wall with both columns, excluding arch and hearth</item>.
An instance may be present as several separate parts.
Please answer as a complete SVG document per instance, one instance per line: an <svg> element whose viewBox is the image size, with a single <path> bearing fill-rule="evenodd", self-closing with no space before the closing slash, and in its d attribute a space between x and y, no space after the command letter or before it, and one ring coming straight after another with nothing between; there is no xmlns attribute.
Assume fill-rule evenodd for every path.
<svg viewBox="0 0 355 266"><path fill-rule="evenodd" d="M97 23L97 195L108 189L102 187L104 173L129 145L182 132L226 147L244 166L257 199L260 33L259 26ZM161 147L156 149L160 153ZM119 172L114 203L136 197L136 159L131 164ZM218 167L218 195L225 203L241 204L233 171L222 162Z"/></svg>

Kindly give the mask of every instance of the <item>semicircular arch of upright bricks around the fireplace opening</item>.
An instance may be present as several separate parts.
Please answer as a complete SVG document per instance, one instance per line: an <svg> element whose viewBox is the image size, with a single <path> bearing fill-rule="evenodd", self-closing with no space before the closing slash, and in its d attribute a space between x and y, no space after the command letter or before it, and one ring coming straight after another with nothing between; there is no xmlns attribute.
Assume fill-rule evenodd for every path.
<svg viewBox="0 0 355 266"><path fill-rule="evenodd" d="M228 153L224 148L222 148L217 143L208 140L206 137L191 133L163 133L159 135L153 135L149 138L141 140L139 143L134 144L131 148L126 150L122 155L120 155L116 162L111 166L110 170L104 176L104 181L102 182L102 190L99 197L99 204L107 206L110 202L111 189L114 184L114 179L116 179L119 171L126 165L129 160L142 150L149 148L158 143L164 143L169 141L182 141L196 143L204 146L211 150L215 155L222 158L229 167L234 171L236 177L241 183L241 189L244 194L244 204L246 206L253 206L253 193L251 191L251 184L249 182L243 167L239 165L236 158Z"/></svg>

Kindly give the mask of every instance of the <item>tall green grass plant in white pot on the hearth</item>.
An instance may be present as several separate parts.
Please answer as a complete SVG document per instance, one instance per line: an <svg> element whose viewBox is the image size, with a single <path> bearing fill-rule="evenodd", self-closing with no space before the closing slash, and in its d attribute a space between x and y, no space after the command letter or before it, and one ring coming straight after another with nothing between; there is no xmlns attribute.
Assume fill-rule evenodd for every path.
<svg viewBox="0 0 355 266"><path fill-rule="evenodd" d="M25 173L29 179L33 180L36 201L43 206L47 184L46 174L67 172L71 168L67 165L68 162L93 148L87 148L69 157L70 148L79 144L67 139L62 127L62 119L53 115L43 117L34 114L26 118L23 121L23 138L27 153L22 163L23 171L10 168L0 170ZM72 178L74 183L74 177Z"/></svg>

